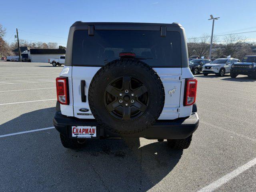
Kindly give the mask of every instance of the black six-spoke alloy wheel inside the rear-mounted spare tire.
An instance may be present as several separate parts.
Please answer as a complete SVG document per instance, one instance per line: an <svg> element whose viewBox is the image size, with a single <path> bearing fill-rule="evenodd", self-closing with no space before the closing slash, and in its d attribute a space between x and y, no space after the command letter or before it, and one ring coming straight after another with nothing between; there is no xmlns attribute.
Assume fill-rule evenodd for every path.
<svg viewBox="0 0 256 192"><path fill-rule="evenodd" d="M107 86L104 104L110 114L120 120L140 117L148 107L148 88L132 76L118 77Z"/></svg>

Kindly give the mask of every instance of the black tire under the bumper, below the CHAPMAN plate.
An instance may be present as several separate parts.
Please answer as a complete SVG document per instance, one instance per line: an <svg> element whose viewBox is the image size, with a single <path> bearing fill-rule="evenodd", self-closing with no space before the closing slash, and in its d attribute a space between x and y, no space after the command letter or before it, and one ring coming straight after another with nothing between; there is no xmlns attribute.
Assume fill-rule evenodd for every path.
<svg viewBox="0 0 256 192"><path fill-rule="evenodd" d="M60 141L65 148L78 149L86 145L86 139L70 139L60 134Z"/></svg>

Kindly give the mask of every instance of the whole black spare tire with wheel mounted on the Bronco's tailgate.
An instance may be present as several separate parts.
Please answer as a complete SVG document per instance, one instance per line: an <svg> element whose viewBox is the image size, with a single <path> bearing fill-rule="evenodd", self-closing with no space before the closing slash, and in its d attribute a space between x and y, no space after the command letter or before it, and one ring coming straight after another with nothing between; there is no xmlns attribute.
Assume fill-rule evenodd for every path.
<svg viewBox="0 0 256 192"><path fill-rule="evenodd" d="M150 127L164 107L164 87L146 63L122 58L109 62L92 78L88 102L100 126L118 134Z"/></svg>

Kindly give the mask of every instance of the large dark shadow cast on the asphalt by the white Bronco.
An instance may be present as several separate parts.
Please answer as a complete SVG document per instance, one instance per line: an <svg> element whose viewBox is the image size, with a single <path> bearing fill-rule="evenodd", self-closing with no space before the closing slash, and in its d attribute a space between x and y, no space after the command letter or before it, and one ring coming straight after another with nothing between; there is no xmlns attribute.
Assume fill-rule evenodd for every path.
<svg viewBox="0 0 256 192"><path fill-rule="evenodd" d="M22 114L1 130L8 128L3 134L9 134L51 127L54 112L45 108ZM142 141L88 140L84 148L71 150L62 146L55 129L9 136L0 140L0 163L6 165L1 174L6 182L16 179L17 186L29 183L24 186L28 190L40 185L42 191L147 191L170 174L183 150L172 150L167 142ZM15 175L13 165L19 167Z"/></svg>

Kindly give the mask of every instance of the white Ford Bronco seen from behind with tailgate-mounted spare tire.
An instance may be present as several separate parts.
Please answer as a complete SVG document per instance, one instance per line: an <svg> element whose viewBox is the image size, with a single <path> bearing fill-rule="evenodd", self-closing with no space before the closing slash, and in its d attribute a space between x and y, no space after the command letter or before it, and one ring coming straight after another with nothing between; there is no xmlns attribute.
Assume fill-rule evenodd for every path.
<svg viewBox="0 0 256 192"><path fill-rule="evenodd" d="M143 137L185 149L199 124L196 88L180 24L75 22L54 126L66 148Z"/></svg>

